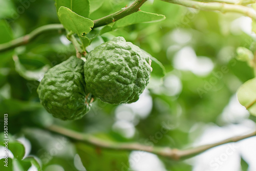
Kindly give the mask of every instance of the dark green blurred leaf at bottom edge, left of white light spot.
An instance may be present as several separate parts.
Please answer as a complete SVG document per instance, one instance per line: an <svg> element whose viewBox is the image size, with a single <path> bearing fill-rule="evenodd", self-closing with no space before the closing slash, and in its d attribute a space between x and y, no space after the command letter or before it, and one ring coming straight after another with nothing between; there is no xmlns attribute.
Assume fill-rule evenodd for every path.
<svg viewBox="0 0 256 171"><path fill-rule="evenodd" d="M123 170L129 168L129 152L113 151L76 143L77 153L87 170ZM95 161L100 161L100 164ZM126 165L127 168L123 168Z"/></svg>

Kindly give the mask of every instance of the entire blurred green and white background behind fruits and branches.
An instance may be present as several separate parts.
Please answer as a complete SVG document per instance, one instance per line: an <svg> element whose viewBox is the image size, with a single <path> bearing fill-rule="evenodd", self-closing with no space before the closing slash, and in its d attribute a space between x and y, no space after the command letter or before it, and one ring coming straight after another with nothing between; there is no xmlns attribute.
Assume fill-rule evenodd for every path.
<svg viewBox="0 0 256 171"><path fill-rule="evenodd" d="M93 6L91 19L132 3L95 2L98 6ZM0 0L0 6L0 43L40 26L59 23L53 0ZM96 100L80 120L53 118L39 103L36 88L49 68L74 55L75 50L64 33L47 32L26 46L0 52L1 132L7 113L13 144L22 143L25 157L34 156L46 171L256 170L255 137L212 148L187 160L172 161L150 153L96 148L45 129L54 123L104 140L179 149L255 129L256 118L240 105L236 95L241 84L254 77L247 62L236 58L238 47L255 50L252 20L236 13L204 12L158 0L147 1L141 10L165 15L166 19L105 33L88 47L90 51L104 41L123 36L163 63L166 75L151 80L151 89L146 89L137 102L111 105ZM161 132L163 129L167 132ZM56 148L57 143L62 146ZM0 158L3 148L0 146ZM17 145L15 149L19 152L23 147ZM10 157L14 156L10 153ZM1 170L37 170L22 159L10 159L9 164L6 168L1 162Z"/></svg>

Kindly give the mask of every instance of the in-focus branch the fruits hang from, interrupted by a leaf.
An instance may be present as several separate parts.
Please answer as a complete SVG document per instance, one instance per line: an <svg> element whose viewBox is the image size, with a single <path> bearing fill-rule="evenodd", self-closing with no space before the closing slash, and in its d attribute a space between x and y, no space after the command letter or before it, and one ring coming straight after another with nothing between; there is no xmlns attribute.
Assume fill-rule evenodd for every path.
<svg viewBox="0 0 256 171"><path fill-rule="evenodd" d="M121 19L127 15L130 15L134 12L139 11L139 8L146 1L147 0L136 0L129 7L122 8L121 10L119 10L113 14L93 20L93 22L94 22L93 28L108 25L110 23L116 22L118 19ZM4 51L7 51L7 50L10 50L10 49L22 46L22 45L26 45L29 42L31 42L32 40L34 40L40 34L48 32L48 31L52 31L52 30L62 31L62 30L65 30L65 28L61 24L51 24L51 25L45 25L45 26L39 27L23 37L19 37L17 39L9 41L5 44L1 44L0 52L4 52Z"/></svg>

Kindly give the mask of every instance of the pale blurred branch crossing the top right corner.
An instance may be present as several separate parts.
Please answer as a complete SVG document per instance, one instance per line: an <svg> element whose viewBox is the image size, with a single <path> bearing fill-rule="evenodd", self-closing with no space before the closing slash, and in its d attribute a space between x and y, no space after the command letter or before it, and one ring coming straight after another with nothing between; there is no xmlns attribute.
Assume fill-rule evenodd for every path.
<svg viewBox="0 0 256 171"><path fill-rule="evenodd" d="M236 4L225 4L225 3L205 3L191 0L161 0L164 2L178 4L185 7L195 8L203 11L220 11L225 12L236 12L246 15L256 21L256 11L250 7L236 5Z"/></svg>

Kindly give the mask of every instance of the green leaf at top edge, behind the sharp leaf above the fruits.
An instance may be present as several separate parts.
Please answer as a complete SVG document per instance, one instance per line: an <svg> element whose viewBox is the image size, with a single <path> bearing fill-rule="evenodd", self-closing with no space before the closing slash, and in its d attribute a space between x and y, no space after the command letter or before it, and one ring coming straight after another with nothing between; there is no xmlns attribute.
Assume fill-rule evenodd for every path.
<svg viewBox="0 0 256 171"><path fill-rule="evenodd" d="M56 11L59 10L61 6L67 7L81 15L88 18L90 12L90 3L89 0L56 0Z"/></svg>

